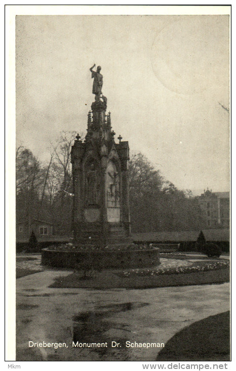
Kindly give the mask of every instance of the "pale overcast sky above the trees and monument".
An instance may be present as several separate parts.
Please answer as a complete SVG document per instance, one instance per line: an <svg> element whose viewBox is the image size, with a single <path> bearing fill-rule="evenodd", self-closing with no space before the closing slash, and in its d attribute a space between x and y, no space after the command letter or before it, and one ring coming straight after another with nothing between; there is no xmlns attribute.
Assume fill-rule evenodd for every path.
<svg viewBox="0 0 236 371"><path fill-rule="evenodd" d="M179 189L229 189L229 17L17 16L17 144L86 133L101 66L112 128Z"/></svg>

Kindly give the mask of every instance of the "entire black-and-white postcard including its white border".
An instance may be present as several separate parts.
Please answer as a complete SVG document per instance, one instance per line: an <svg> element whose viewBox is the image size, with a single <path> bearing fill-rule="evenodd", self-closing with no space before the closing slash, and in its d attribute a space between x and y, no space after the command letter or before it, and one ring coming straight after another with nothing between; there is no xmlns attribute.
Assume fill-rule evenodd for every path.
<svg viewBox="0 0 236 371"><path fill-rule="evenodd" d="M231 7L33 8L12 25L7 360L227 368Z"/></svg>

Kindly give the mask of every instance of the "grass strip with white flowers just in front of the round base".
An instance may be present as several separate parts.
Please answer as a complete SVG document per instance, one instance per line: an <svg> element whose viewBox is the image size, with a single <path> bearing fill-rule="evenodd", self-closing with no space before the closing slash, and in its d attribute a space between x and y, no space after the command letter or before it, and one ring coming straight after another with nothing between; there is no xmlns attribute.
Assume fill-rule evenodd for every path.
<svg viewBox="0 0 236 371"><path fill-rule="evenodd" d="M168 286L220 284L229 281L228 261L192 262L190 266L145 269L104 269L83 279L81 271L58 277L51 287L57 288L127 288L144 289Z"/></svg>

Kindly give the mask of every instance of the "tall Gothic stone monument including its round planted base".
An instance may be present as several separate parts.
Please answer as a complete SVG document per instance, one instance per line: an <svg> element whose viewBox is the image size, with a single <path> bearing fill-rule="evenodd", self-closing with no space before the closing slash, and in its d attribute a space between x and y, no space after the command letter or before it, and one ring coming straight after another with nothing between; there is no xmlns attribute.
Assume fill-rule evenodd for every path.
<svg viewBox="0 0 236 371"><path fill-rule="evenodd" d="M42 264L81 269L135 268L160 264L159 249L137 245L130 236L129 143L118 137L106 114L101 67L93 71L95 101L88 113L84 142L77 134L71 149L73 243L42 250ZM68 215L69 217L69 215Z"/></svg>

